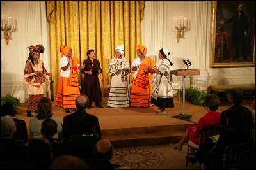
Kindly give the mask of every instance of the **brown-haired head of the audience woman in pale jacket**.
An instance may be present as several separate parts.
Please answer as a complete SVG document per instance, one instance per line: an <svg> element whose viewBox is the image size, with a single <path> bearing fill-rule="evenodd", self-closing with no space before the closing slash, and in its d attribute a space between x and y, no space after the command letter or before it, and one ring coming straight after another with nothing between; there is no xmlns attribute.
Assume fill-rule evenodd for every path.
<svg viewBox="0 0 256 170"><path fill-rule="evenodd" d="M49 97L42 97L38 103L38 114L36 115L39 119L47 119L52 117L52 102Z"/></svg>

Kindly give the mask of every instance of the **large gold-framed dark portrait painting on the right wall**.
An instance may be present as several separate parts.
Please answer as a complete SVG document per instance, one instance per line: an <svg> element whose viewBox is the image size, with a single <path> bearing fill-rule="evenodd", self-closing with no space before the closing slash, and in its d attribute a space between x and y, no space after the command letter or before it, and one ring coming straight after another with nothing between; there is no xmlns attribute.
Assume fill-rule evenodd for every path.
<svg viewBox="0 0 256 170"><path fill-rule="evenodd" d="M211 67L255 67L255 1L212 1Z"/></svg>

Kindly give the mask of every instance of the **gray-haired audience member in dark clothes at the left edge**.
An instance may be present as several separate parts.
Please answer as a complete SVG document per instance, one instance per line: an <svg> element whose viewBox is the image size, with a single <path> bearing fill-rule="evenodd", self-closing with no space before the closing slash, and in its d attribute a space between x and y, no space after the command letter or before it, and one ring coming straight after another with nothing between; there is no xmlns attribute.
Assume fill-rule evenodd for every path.
<svg viewBox="0 0 256 170"><path fill-rule="evenodd" d="M9 115L1 117L1 169L26 167L28 151L24 143L13 140L16 132L15 122Z"/></svg>

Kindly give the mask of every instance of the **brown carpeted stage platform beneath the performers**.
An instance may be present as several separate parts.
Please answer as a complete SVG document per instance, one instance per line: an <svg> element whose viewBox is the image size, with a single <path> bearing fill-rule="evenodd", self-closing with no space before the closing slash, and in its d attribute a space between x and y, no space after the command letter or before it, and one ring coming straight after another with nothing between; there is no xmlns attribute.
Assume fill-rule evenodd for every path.
<svg viewBox="0 0 256 170"><path fill-rule="evenodd" d="M109 139L115 148L177 143L188 125L193 124L193 122L197 123L206 113L204 107L186 101L185 113L192 115L190 120L193 122L172 118L171 116L182 113L182 103L178 104L176 97L174 97L175 107L166 108L167 113L165 115L157 115L156 106L149 108L109 108L106 106L107 97L103 97L102 101L104 108L96 108L95 103L93 103L92 108L86 109L86 111L99 118L102 138ZM17 108L20 110L20 114L16 118L25 120L27 128L29 128L30 117L26 116L26 103L20 104ZM54 113L53 117L61 118L61 120L65 115L70 114L65 113L63 108L54 106L54 103L52 103L52 113ZM35 117L35 113L33 116Z"/></svg>

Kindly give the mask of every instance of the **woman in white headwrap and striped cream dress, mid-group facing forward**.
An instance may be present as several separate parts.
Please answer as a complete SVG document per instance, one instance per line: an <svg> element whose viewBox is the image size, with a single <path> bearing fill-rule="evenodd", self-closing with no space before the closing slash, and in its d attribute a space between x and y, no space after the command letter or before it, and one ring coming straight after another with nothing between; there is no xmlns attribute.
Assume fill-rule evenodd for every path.
<svg viewBox="0 0 256 170"><path fill-rule="evenodd" d="M122 56L123 54L124 45L116 46L116 57L111 59L108 64L109 74L112 78L107 106L112 108L124 108L130 106L130 91L127 82L127 75L130 72L130 63Z"/></svg>

